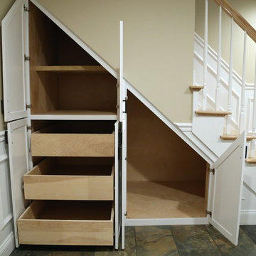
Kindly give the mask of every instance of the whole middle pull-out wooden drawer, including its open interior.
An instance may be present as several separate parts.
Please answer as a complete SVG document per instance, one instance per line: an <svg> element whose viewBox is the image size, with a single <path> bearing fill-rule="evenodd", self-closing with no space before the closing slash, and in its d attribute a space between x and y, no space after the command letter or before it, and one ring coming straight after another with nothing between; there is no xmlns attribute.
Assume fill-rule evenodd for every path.
<svg viewBox="0 0 256 256"><path fill-rule="evenodd" d="M112 159L95 160L98 161L87 161L79 157L44 159L23 176L25 198L114 200Z"/></svg>

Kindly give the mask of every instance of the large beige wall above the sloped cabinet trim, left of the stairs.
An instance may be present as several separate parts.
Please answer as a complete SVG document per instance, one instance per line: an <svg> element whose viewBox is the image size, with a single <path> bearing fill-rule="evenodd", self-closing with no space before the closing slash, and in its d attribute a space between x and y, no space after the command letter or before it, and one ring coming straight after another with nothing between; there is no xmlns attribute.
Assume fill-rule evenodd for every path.
<svg viewBox="0 0 256 256"><path fill-rule="evenodd" d="M195 0L38 0L174 122L191 120Z"/></svg>

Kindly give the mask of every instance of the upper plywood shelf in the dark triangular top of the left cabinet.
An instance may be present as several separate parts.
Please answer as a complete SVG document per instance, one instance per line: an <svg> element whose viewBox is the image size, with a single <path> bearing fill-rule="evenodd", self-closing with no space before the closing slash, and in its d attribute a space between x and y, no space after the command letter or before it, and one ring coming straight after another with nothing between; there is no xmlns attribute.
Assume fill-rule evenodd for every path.
<svg viewBox="0 0 256 256"><path fill-rule="evenodd" d="M43 65L36 66L35 70L53 73L107 73L101 65Z"/></svg>

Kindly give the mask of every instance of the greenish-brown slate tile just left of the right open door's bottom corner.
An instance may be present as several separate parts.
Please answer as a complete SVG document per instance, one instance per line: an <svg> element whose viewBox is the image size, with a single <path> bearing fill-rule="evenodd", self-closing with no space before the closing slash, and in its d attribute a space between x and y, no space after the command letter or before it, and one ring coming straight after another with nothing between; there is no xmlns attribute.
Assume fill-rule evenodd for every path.
<svg viewBox="0 0 256 256"><path fill-rule="evenodd" d="M215 250L213 239L203 225L177 225L171 227L178 250Z"/></svg>

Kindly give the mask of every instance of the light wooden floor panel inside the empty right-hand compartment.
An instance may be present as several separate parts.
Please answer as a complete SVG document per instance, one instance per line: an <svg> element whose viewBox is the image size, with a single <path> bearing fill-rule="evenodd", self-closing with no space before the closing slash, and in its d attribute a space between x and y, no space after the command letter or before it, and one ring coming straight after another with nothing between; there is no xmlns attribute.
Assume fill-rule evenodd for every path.
<svg viewBox="0 0 256 256"><path fill-rule="evenodd" d="M205 213L204 181L129 181L127 218L200 218Z"/></svg>

